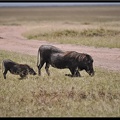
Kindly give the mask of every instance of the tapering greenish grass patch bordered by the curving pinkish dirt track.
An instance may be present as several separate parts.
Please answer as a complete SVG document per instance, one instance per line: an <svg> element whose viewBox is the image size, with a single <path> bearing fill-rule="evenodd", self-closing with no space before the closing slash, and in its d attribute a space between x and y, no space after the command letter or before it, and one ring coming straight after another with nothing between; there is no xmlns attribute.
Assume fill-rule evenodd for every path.
<svg viewBox="0 0 120 120"><path fill-rule="evenodd" d="M34 32L35 31L35 32ZM95 47L120 48L120 31L105 28L88 29L34 29L23 34L28 39L46 40L61 44L77 44Z"/></svg>

